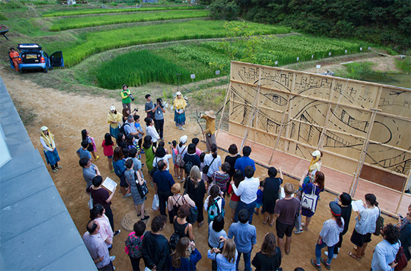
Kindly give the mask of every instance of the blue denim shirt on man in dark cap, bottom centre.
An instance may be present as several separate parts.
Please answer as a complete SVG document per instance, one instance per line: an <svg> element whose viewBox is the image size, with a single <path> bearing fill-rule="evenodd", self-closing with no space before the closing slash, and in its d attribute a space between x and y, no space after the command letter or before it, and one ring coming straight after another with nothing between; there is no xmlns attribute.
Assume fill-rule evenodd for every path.
<svg viewBox="0 0 411 271"><path fill-rule="evenodd" d="M257 230L254 225L248 222L245 224L241 222L232 223L228 229L228 238L233 238L235 247L238 252L248 253L251 251L252 245L257 243Z"/></svg>

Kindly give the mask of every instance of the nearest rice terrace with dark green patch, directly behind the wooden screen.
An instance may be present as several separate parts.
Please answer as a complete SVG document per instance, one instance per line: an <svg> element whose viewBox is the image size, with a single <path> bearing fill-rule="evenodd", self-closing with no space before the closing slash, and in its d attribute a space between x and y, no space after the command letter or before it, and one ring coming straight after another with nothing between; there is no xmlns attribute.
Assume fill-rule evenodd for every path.
<svg viewBox="0 0 411 271"><path fill-rule="evenodd" d="M240 47L235 41L233 47ZM321 59L328 57L328 53L337 56L358 53L360 46L355 42L346 42L333 39L312 38L306 36L288 36L284 38L265 39L256 54L257 64L286 65L298 61ZM237 59L247 61L246 49L239 48ZM211 65L216 63L217 65ZM112 61L99 66L94 76L102 88L118 88L118 82L125 82L130 86L140 86L149 82L158 81L167 84L176 84L176 73L181 73L180 82L191 82L190 74L195 74L194 81L215 78L229 74L230 59L219 42L203 42L198 45L173 45L165 49L141 51L121 55ZM147 71L149 70L149 72ZM216 75L220 70L220 75Z"/></svg>

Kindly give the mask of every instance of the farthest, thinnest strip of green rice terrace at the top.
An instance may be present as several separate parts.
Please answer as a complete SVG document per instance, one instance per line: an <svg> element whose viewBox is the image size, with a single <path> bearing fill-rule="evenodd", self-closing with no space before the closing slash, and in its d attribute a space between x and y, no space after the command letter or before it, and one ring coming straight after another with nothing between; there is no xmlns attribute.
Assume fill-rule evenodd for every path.
<svg viewBox="0 0 411 271"><path fill-rule="evenodd" d="M78 9L68 11L57 11L43 14L43 17L59 17L72 15L88 15L102 13L118 13L118 12L140 12L140 11L163 11L163 10L198 10L201 6L175 6L175 7L150 7L150 8L135 8L135 9Z"/></svg>

